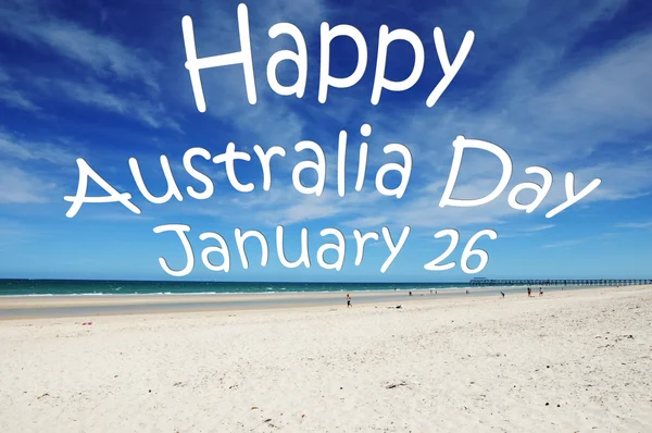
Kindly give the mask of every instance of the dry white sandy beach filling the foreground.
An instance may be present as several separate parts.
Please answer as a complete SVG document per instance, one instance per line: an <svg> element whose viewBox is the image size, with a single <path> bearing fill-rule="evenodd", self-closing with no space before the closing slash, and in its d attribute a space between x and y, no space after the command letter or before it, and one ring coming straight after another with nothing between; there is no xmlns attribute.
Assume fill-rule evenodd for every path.
<svg viewBox="0 0 652 433"><path fill-rule="evenodd" d="M343 304L0 321L0 431L652 431L652 287Z"/></svg>

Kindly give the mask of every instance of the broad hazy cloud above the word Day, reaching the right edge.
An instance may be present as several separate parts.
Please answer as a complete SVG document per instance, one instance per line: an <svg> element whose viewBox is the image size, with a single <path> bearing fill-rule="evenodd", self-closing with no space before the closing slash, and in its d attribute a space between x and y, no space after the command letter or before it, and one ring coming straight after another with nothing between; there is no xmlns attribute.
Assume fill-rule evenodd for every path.
<svg viewBox="0 0 652 433"><path fill-rule="evenodd" d="M564 165L650 129L652 109L645 101L652 98L647 86L652 63L647 47L651 44L652 34L631 37L542 83L529 78L523 85L519 81L537 76L532 69L548 69L546 64L515 65L518 77L514 72L494 89L493 94L502 97L485 110L459 108L436 119L423 110L412 110L404 122L393 124L401 125L408 140L419 144L415 152L421 158L438 165L441 146L460 134L496 143L513 158L527 158L532 164Z"/></svg>

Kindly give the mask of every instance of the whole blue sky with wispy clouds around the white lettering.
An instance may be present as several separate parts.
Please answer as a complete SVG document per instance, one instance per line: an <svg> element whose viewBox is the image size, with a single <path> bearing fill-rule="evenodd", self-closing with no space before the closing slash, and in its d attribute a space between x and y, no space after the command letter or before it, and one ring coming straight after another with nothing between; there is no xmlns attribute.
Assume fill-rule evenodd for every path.
<svg viewBox="0 0 652 433"><path fill-rule="evenodd" d="M467 281L487 277L650 277L652 258L652 5L645 1L431 1L340 2L326 0L247 3L256 78L258 103L249 104L241 66L203 71L208 110L195 104L181 17L193 20L199 57L239 49L236 1L54 2L5 0L0 8L0 276L79 279L171 279L160 267L185 264L178 238L154 234L161 224L188 224L196 265L189 280L240 281ZM267 84L266 64L279 49L296 50L292 39L271 39L279 22L297 25L308 42L308 85L303 98L276 95ZM317 101L319 25L351 24L365 37L369 61L363 78L348 89L329 89ZM421 38L425 67L403 92L384 91L369 102L378 28L406 28ZM425 100L442 76L432 29L443 30L449 55L467 30L475 33L471 52L439 101ZM350 74L356 62L350 40L331 46L331 73ZM402 79L413 53L397 42L388 51L387 76ZM281 84L296 79L289 62L279 67ZM373 127L365 187L358 193L356 152L360 127ZM340 131L349 134L348 189L337 195L336 156ZM439 208L457 135L494 143L512 158L507 189L477 208ZM298 193L291 182L301 140L321 145L327 158L326 190L321 197ZM224 166L197 163L214 183L208 200L196 200L187 186L202 184L184 170L192 147L212 156L229 141L253 156L236 165L238 193ZM410 148L413 170L401 199L374 187L377 170L401 158L383 148ZM283 146L287 157L272 163L272 188L262 189L262 171L253 146ZM184 193L181 202L149 203L138 191L128 165L137 158L146 185L166 190L160 164L165 154ZM120 203L86 203L65 216L78 183L76 159L84 158L111 185L133 195L136 215ZM501 169L481 151L464 157L453 197L477 198L498 183ZM195 161L193 161L195 163ZM553 187L532 213L507 205L509 190L529 165L553 173ZM593 178L602 184L588 197L552 219L546 212L565 199L564 175L575 173L576 190ZM305 177L308 184L310 176ZM388 178L397 184L397 178ZM388 184L388 185L389 185ZM102 194L91 186L89 194ZM519 197L521 198L521 197ZM527 194L523 195L527 201ZM531 200L531 196L529 196ZM286 230L288 258L299 257L299 234L310 231L311 268L285 269L276 255L275 228ZM409 238L386 273L389 250L367 244L364 261L354 265L353 230L380 234L388 226L394 242L404 226ZM251 242L250 268L242 270L234 230L259 230L269 245L269 262L260 265ZM346 236L341 271L323 270L318 247L334 242L319 231L337 227ZM448 239L432 235L455 228L461 239L444 261L455 268L428 272L424 264L441 255ZM465 243L493 228L498 239L477 243L489 262L479 274L460 269ZM203 232L222 234L229 248L228 273L204 268ZM381 236L381 235L380 235ZM248 244L249 245L249 244ZM218 262L218 255L211 256ZM334 255L327 255L333 260ZM477 264L477 260L469 263Z"/></svg>

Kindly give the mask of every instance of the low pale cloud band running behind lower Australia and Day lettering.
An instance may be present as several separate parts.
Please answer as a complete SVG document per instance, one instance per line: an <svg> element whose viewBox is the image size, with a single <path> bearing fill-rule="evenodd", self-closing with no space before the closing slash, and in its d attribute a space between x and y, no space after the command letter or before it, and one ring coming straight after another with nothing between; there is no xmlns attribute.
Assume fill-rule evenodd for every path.
<svg viewBox="0 0 652 433"><path fill-rule="evenodd" d="M563 211L563 214L574 212L587 203L600 200L625 199L642 194L641 187L644 185L652 186L652 181L648 180L648 173L652 169L650 163L644 160L630 165L609 163L575 171L576 193L588 185L590 181L599 177L600 174L603 174L603 183L588 197ZM340 220L343 224L351 226L371 226L396 222L411 225L414 228L431 230L479 224L493 227L497 224L512 221L511 219L514 216L518 216L524 223L528 223L534 219L541 218L546 211L566 200L565 173L562 172L553 174L553 187L534 214L526 214L524 211L511 208L506 201L511 188L521 182L541 182L540 176L526 175L518 166L515 166L514 171L512 182L498 199L475 208L439 208L448 175L425 185L413 183L409 185L405 197L398 200L381 196L375 189L373 183L368 183L362 193L356 193L352 190L351 180L348 182L349 187L343 198L337 195L336 184L333 180L327 182L328 186L322 197L305 196L294 190L288 178L284 178L288 182L284 184L273 172L274 182L269 191L261 190L259 184L256 190L250 194L220 193L222 197L218 208L198 206L193 212L231 220L247 218L269 225L293 224L329 218ZM482 173L484 171L480 171L480 174ZM477 178L471 176L466 182L455 187L453 197L472 199L489 194L497 186L499 175L500 172L492 173L492 176L489 174L484 174ZM529 202L532 198L531 195L529 197L519 196L519 201ZM554 224L547 223L521 231L532 233L552 227L554 227Z"/></svg>

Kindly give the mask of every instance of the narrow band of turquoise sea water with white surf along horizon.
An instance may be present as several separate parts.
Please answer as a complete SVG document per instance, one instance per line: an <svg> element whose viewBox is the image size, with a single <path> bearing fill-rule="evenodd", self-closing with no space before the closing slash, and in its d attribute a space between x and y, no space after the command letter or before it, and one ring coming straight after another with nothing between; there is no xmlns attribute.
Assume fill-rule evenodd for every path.
<svg viewBox="0 0 652 433"><path fill-rule="evenodd" d="M466 288L468 283L238 283L176 281L0 280L0 296L188 295L303 292L371 292Z"/></svg>

